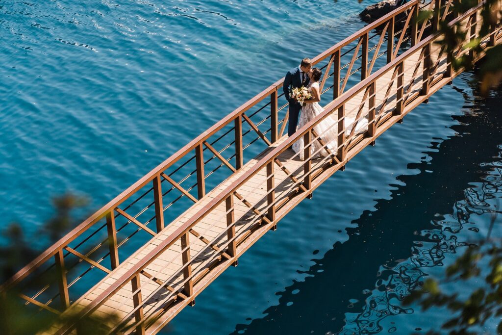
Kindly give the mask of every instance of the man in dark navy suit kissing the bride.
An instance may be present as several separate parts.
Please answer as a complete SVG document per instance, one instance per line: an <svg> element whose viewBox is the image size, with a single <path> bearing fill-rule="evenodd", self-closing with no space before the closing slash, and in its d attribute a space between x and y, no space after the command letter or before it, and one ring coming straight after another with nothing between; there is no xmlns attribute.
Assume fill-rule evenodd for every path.
<svg viewBox="0 0 502 335"><path fill-rule="evenodd" d="M295 99L289 97L289 92L293 87L302 87L309 84L310 78L308 72L312 67L312 61L309 58L304 58L300 66L288 71L284 79L284 96L289 102L289 121L288 121L288 136L291 137L296 132L298 126L298 116L302 106Z"/></svg>

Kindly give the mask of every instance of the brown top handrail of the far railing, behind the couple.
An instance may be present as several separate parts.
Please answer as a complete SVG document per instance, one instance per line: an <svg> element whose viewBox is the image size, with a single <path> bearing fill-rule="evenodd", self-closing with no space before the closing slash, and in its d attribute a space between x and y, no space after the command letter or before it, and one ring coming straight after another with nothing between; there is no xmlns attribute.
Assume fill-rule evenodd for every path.
<svg viewBox="0 0 502 335"><path fill-rule="evenodd" d="M420 0L413 0L407 4L402 5L401 7L397 8L397 9L395 9L394 11L389 13L387 16L382 17L379 20L376 20L373 23L365 26L363 29L359 30L358 32L352 34L351 36L349 36L349 37L345 38L344 40L342 40L341 42L335 44L334 46L332 46L328 50L326 50L326 51L322 52L321 54L319 54L318 56L314 57L312 59L313 64L315 65L315 64L321 62L325 58L333 55L335 52L338 52L344 46L347 46L348 44L354 42L355 40L357 40L361 36L367 34L369 31L379 27L380 25L388 22L389 20L392 20L397 15L403 13L407 9L411 8L412 6L418 5L418 4L420 4ZM243 113L245 113L247 110L249 110L250 108L252 108L256 104L258 104L260 101L265 99L267 96L273 94L274 92L277 92L277 90L282 87L283 83L284 83L284 78L276 81L274 84L267 87L262 92L260 92L259 94L257 94L253 98L249 99L244 104L237 107L234 111L232 111L226 117L221 119L219 122L214 124L212 127L210 127L205 132L201 133L195 139L190 141L187 145L185 145L183 148L178 150L171 157L169 157L164 162L159 164L157 167L155 167L149 173L144 175L142 178L140 178L137 182L135 182L129 188L127 188L126 190L121 192L118 196L113 198L111 201L109 201L107 204L105 204L103 207L101 207L99 210L97 210L95 213L93 213L91 216L89 216L87 219L85 219L81 224L79 224L77 227L75 227L73 230L71 230L68 234L66 234L63 238L61 238L55 244L53 244L52 246L47 248L47 250L45 250L37 258L35 258L32 262L30 262L28 265L26 265L21 270L19 270L13 277L11 277L8 281L6 281L4 284L2 284L2 286L0 286L0 292L3 292L5 290L11 288L13 285L15 285L19 281L23 280L24 278L26 278L35 269L37 269L39 266L41 266L43 263L45 263L47 260L49 260L51 257L53 257L56 253L58 253L60 250L62 250L68 244L73 242L82 233L87 231L91 226L96 224L96 222L98 222L99 220L104 218L108 213L113 212L114 208L116 208L117 206L122 204L124 201L126 201L128 198L130 198L133 194L135 194L138 190L143 188L145 185L152 182L152 180L154 178L159 177L161 172L163 172L166 169L168 169L169 167L173 166L173 164L178 162L182 157L187 155L189 152L194 150L196 147L200 146L209 137L211 137L212 135L217 133L219 130L221 130L226 125L233 122L236 118L239 118L240 116L242 116Z"/></svg>

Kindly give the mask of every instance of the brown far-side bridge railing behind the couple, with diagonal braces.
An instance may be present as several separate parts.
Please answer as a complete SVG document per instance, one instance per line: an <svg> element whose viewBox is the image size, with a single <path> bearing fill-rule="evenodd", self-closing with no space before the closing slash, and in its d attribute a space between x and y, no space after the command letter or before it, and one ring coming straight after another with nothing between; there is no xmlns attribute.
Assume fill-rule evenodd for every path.
<svg viewBox="0 0 502 335"><path fill-rule="evenodd" d="M451 12L449 4L411 1L315 57L314 65L325 73L322 92L331 91L336 98L395 59L439 20L419 24L419 9L441 8L445 18ZM165 221L175 219L249 159L276 144L288 120L282 85L283 79L267 87L180 149L21 269L1 290L15 288L37 311L65 310L164 229ZM40 284L41 277L50 280Z"/></svg>

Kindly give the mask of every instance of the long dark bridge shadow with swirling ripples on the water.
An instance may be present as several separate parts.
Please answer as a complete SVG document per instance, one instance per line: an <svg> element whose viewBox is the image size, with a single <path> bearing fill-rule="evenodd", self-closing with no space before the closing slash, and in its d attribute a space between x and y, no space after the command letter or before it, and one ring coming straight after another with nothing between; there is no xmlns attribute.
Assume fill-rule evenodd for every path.
<svg viewBox="0 0 502 335"><path fill-rule="evenodd" d="M455 236L463 224L478 230L469 222L476 209L466 189L480 193L469 183L482 182L496 170L483 163L500 160L501 102L497 92L464 106L465 115L454 117L458 134L433 142L420 163L408 165L419 174L397 177L405 185L395 185L390 200L377 200L375 209L354 220L348 241L313 259L315 264L301 272L307 274L304 281L276 293L279 305L266 309L263 318L236 325L232 334L371 334L384 330L383 318L413 313L399 300L420 286L424 269L442 266L451 257L447 253L465 245ZM500 181L498 174L494 180ZM404 333L384 332L394 331Z"/></svg>

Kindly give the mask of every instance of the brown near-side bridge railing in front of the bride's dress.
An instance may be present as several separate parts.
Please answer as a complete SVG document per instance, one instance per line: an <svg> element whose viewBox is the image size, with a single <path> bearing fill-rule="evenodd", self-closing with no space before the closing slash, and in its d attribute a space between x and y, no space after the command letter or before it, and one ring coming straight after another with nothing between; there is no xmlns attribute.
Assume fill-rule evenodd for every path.
<svg viewBox="0 0 502 335"><path fill-rule="evenodd" d="M450 26L462 22L464 30L469 32L469 39L482 38L483 44L493 43L500 36L500 28L495 27L488 36L479 36L477 27L480 23L481 6L482 4L453 20L450 22ZM225 188L209 203L199 208L183 226L163 239L138 263L124 271L118 280L84 307L80 317L91 316L110 297L120 290L126 289L126 285L132 283L132 286L128 286L127 290L131 296L135 296L134 307L128 309L128 315L110 332L120 330L129 333L137 330L142 333L146 328L155 331L154 328L161 325L157 320L162 317L169 304L179 303L180 300L181 303L188 304L193 300L197 294L194 292L194 286L204 279L211 268L218 265L228 266L236 262L237 257L245 250L245 246L241 244L245 242L245 238L249 234L264 225L273 229L283 215L281 211L283 206L292 198L308 196L314 184L322 182L336 170L343 168L357 152L375 141L392 124L401 120L406 113L426 100L432 90L441 87L440 81L450 81L457 74L445 55L444 46L435 44L441 38L441 34L434 34L417 42L414 48L393 59L382 69L330 102L321 115L274 148L242 174L238 180ZM456 50L457 57L472 52L468 47L468 40L463 47ZM405 66L409 60L415 66ZM378 94L378 88L382 92L385 91L385 94ZM348 104L348 102L351 103ZM354 113L355 120L349 126L346 122L347 115L354 115ZM332 150L332 145L323 143L324 134L317 127L319 123L325 122L328 118L332 120L331 127L336 129L338 137L336 151ZM367 128L357 134L356 125L362 121L367 122ZM328 130L323 130L323 132L326 131ZM278 161L285 164L284 161L280 160L280 155L289 146L300 140L303 140L305 144L303 166L299 170L287 173L289 177L287 183L275 185L274 176L282 170ZM316 147L315 151L312 152L310 147ZM324 157L314 158L317 153L323 150L326 151ZM300 155L298 153L289 159L298 160ZM284 172L284 170L282 171ZM260 184L254 184L252 189L243 188L244 184L252 178L261 180ZM266 196L255 199L247 205L250 208L249 211L256 215L250 216L245 224L242 224L240 220L237 225L234 215L235 202L242 201L242 198L252 198L250 196L260 187L266 188ZM242 192L242 189L245 189L245 192ZM226 222L227 228L218 236L213 237L205 248L196 254L190 254L190 230L208 215L213 215L212 220L215 223ZM207 227L206 231L210 228ZM202 235L204 233L204 231L201 232ZM152 280L148 285L154 286L155 289L149 289L148 294L142 297L142 293L146 292L145 288L148 286L145 284L145 278L140 278L142 271L145 271L148 265L175 244L180 246L179 252L175 255L171 254L169 259L163 258L165 264L163 268L149 274L149 278ZM214 252L215 250L218 252ZM203 253L210 254L210 257L201 263L198 256ZM176 265L177 270L173 275L159 281L162 270L173 264L181 264L181 266ZM130 287L132 287L132 291ZM159 299L159 296L165 302L163 309L155 309L150 304L152 300ZM116 306L116 308L121 307ZM68 333L73 326L73 324L65 324L58 333Z"/></svg>

